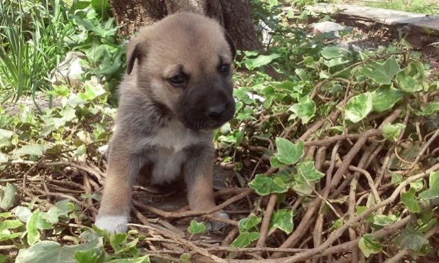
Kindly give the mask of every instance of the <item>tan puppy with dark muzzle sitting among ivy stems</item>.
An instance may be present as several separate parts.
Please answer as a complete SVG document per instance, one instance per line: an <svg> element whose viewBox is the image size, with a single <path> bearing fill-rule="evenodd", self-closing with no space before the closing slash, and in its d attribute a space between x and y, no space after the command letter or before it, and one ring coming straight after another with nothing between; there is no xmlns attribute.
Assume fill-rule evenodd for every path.
<svg viewBox="0 0 439 263"><path fill-rule="evenodd" d="M151 185L183 179L190 209L212 209L213 133L235 113L236 48L213 19L172 14L139 30L126 53L95 222L111 233L128 229L131 189L139 173Z"/></svg>

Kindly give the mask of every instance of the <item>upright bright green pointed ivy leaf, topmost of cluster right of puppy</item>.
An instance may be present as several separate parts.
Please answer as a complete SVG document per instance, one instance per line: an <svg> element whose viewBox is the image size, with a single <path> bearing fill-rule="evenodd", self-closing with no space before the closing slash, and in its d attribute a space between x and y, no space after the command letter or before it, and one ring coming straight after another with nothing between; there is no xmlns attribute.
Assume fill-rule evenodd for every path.
<svg viewBox="0 0 439 263"><path fill-rule="evenodd" d="M304 154L304 142L300 141L299 144L293 144L291 141L276 137L276 148L278 152L275 153L275 157L285 164L294 164L299 161L300 157Z"/></svg>

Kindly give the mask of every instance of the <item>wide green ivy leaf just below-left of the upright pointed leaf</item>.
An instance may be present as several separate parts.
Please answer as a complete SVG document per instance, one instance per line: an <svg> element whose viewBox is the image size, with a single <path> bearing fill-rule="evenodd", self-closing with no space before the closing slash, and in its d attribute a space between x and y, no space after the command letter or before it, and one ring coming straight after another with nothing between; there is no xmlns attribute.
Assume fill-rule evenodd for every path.
<svg viewBox="0 0 439 263"><path fill-rule="evenodd" d="M284 193L289 188L286 180L286 176L283 175L271 177L256 174L255 178L249 182L249 187L254 189L260 196L266 196L271 193Z"/></svg>

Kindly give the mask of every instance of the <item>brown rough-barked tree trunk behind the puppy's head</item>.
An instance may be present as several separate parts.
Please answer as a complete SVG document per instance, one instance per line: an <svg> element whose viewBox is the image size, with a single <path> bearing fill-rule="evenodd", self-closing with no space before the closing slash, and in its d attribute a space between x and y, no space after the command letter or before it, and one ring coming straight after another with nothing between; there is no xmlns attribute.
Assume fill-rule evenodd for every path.
<svg viewBox="0 0 439 263"><path fill-rule="evenodd" d="M249 0L110 0L119 33L125 36L151 25L168 14L197 12L218 20L240 50L258 50L262 45L253 27Z"/></svg>

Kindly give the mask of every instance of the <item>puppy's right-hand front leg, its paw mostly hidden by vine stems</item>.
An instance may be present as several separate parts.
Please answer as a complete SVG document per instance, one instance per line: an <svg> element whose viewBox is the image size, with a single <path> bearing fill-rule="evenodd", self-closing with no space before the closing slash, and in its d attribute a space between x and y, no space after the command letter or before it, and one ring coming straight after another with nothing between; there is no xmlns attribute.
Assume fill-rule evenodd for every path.
<svg viewBox="0 0 439 263"><path fill-rule="evenodd" d="M188 150L188 159L183 166L185 183L188 187L188 203L191 210L205 211L216 206L213 189L214 147L194 146ZM215 213L223 218L229 218L223 211ZM217 230L221 224L212 224Z"/></svg>

